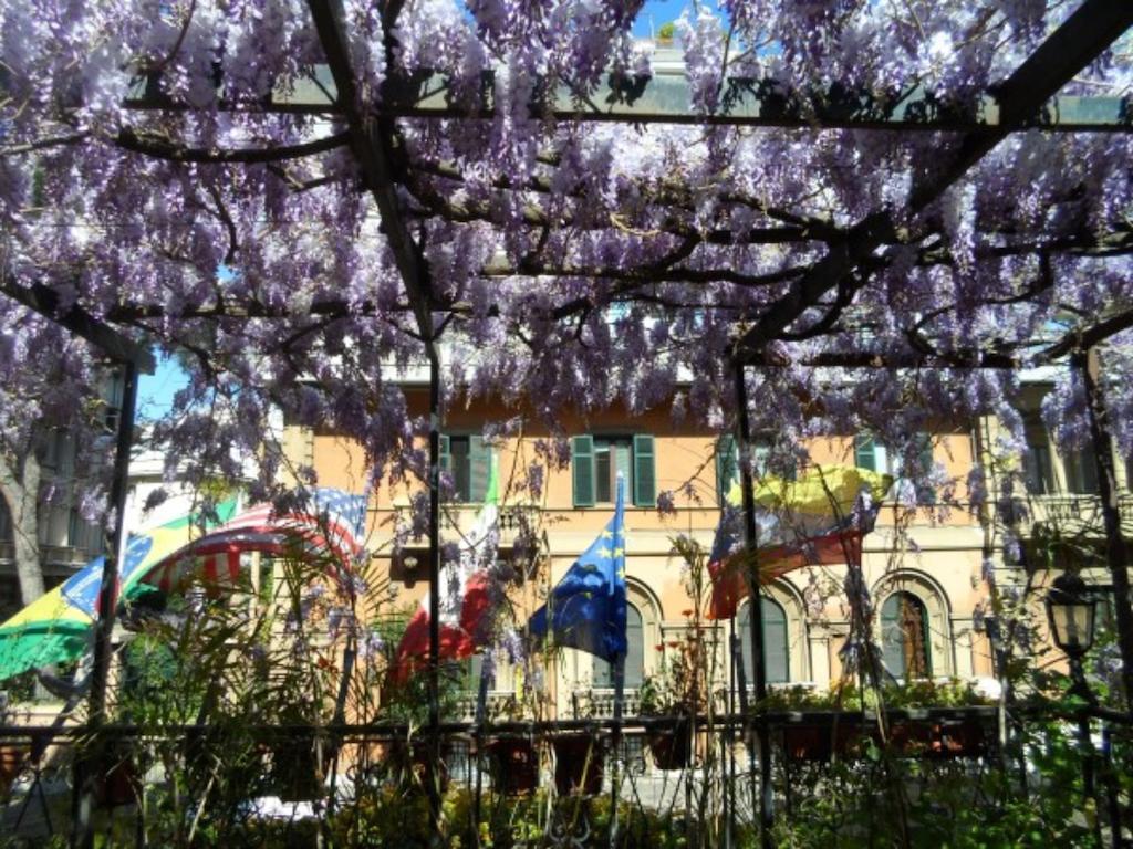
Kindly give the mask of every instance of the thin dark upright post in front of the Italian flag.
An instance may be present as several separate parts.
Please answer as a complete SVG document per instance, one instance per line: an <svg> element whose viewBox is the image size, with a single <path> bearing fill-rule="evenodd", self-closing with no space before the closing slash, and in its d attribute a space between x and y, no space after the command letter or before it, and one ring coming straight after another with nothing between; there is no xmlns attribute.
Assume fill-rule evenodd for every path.
<svg viewBox="0 0 1133 849"><path fill-rule="evenodd" d="M434 830L441 825L441 358L428 350L428 728L425 783Z"/></svg>

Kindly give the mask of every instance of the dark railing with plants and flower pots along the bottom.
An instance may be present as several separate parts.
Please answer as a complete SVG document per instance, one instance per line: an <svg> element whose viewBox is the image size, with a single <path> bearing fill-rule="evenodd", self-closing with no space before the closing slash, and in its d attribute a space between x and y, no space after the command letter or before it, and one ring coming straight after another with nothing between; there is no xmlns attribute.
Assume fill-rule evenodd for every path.
<svg viewBox="0 0 1133 849"><path fill-rule="evenodd" d="M6 727L3 833L14 844L39 846L68 832L78 751L100 753L100 829L112 844L136 846L213 838L224 844L225 835L289 844L312 829L335 835L337 846L414 846L418 833L426 846L427 781L438 782L450 800L445 827L474 842L503 829L492 832L493 846L578 849L608 846L615 827L623 846L648 842L650 830L682 832L688 846L741 846L756 830L759 788L750 746L757 722L766 723L772 741L776 827L786 831L833 816L834 799L853 808L834 817L846 834L879 827L863 816L870 812L891 817L889 825L903 815L927 827L939 807L931 794L947 781L962 781L974 800L1004 777L1022 798L1050 780L1028 762L1038 756L1034 744L1013 751L1008 737L1000 746L994 707L888 711L880 719L811 711L759 719L631 717L621 726L605 719L446 722L437 760L433 738L406 724L105 726L97 735ZM1053 720L1021 721L1048 729ZM1107 783L1117 770L1108 765L1115 751L1119 763L1127 762L1128 728L1096 728L1105 744L1093 754L1102 778L1099 809L1111 814L1106 822L1126 817L1128 824L1127 792ZM1042 734L1040 747L1051 732ZM386 833L395 811L401 831ZM574 812L569 823L568 811ZM526 837L516 830L517 817L531 826ZM1119 826L1107 827L1119 833ZM186 842L189 830L195 833Z"/></svg>

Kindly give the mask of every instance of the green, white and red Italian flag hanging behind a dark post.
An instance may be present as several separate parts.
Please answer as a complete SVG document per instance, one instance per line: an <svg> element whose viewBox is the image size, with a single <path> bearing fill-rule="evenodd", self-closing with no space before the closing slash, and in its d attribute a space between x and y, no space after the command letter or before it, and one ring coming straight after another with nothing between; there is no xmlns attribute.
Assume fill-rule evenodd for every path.
<svg viewBox="0 0 1133 849"><path fill-rule="evenodd" d="M500 540L495 462L488 472L484 505L472 529L461 540L460 557L441 566L440 619L441 660L461 660L488 642L488 569L494 565ZM404 683L415 669L428 662L428 595L409 620L398 645L398 657L390 675Z"/></svg>

